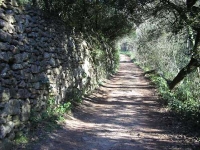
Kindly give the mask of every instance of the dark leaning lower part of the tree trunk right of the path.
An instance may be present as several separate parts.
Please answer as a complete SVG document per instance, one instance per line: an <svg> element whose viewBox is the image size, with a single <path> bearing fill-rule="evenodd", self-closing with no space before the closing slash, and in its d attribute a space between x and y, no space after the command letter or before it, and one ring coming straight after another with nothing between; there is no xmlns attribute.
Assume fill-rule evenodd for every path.
<svg viewBox="0 0 200 150"><path fill-rule="evenodd" d="M190 62L187 66L185 66L181 71L177 74L174 80L169 83L169 89L172 90L179 82L181 82L189 73L195 71L199 66L198 60L191 58Z"/></svg>

